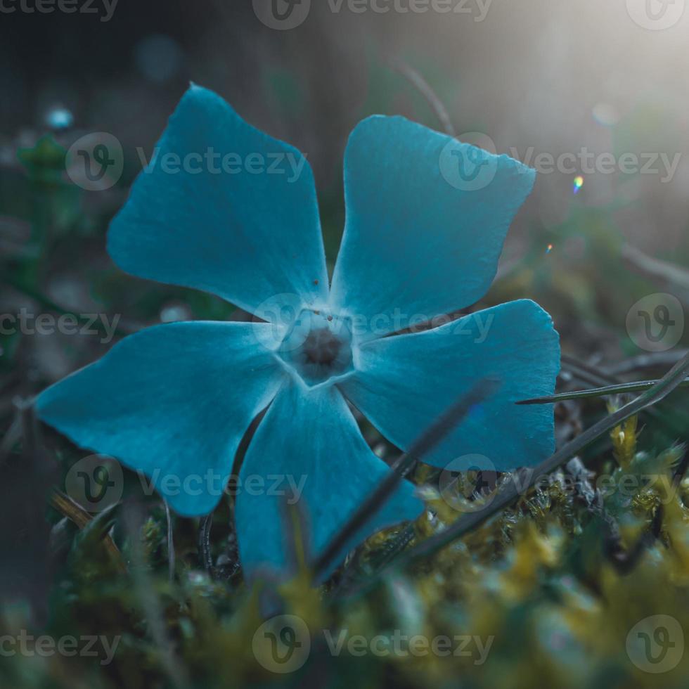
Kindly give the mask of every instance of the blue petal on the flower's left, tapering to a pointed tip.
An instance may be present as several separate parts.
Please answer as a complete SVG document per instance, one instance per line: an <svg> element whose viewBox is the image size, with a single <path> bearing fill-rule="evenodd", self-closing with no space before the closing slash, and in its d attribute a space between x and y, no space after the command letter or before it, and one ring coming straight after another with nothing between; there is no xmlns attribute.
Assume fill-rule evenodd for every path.
<svg viewBox="0 0 689 689"><path fill-rule="evenodd" d="M39 417L76 444L140 470L181 515L220 500L237 446L282 369L255 329L169 323L126 337L42 392Z"/></svg>

